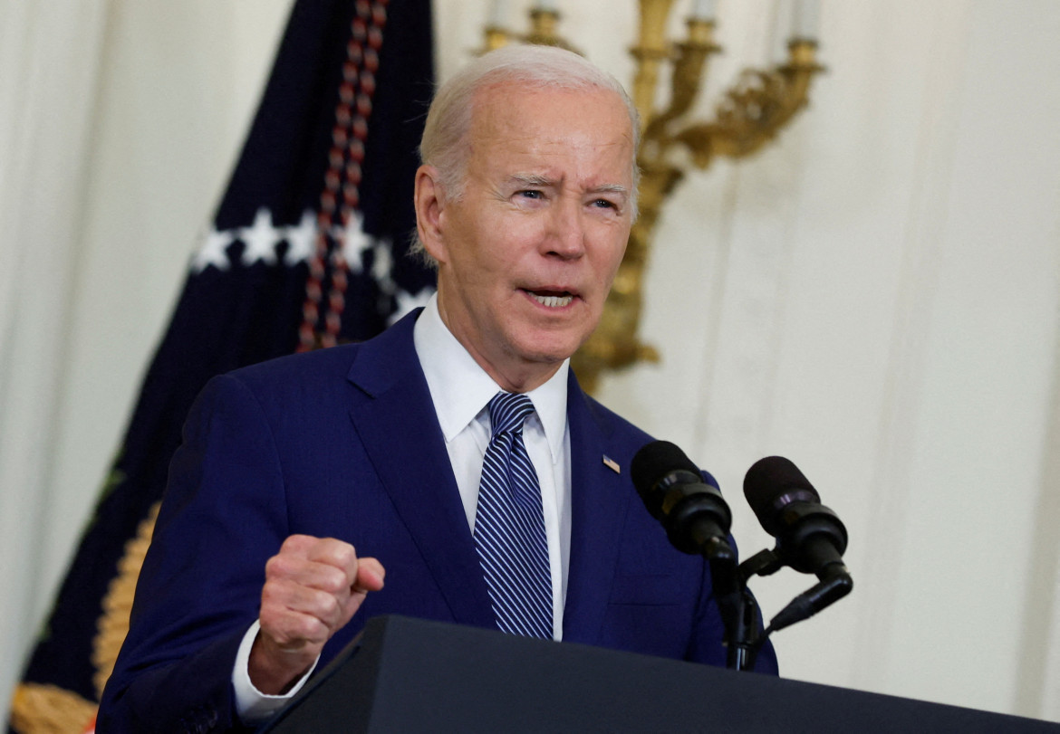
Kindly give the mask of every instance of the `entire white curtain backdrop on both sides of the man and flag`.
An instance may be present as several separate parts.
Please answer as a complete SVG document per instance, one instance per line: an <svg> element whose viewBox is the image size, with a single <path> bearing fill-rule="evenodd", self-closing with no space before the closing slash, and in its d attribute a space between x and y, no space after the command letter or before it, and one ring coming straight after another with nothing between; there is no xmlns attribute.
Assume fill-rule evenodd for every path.
<svg viewBox="0 0 1060 734"><path fill-rule="evenodd" d="M1060 5L822 4L810 108L673 197L642 324L662 362L601 397L719 477L745 556L770 544L740 498L763 455L795 461L847 523L854 591L778 633L783 675L1060 720ZM0 0L0 691L289 5ZM436 1L442 76L487 5ZM570 39L631 78L632 0L560 5ZM782 8L719 3L704 115L775 57ZM810 583L753 589L768 616Z"/></svg>

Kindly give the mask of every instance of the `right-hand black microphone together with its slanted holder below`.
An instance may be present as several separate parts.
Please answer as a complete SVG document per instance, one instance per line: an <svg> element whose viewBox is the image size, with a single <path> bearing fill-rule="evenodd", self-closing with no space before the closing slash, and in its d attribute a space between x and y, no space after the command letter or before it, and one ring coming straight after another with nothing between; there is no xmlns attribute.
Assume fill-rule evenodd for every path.
<svg viewBox="0 0 1060 734"><path fill-rule="evenodd" d="M779 562L819 579L770 621L764 639L850 593L853 579L843 563L847 529L834 512L820 504L820 496L798 467L783 456L756 462L743 480L743 494L762 527L777 539L773 554ZM772 573L777 568L762 572Z"/></svg>

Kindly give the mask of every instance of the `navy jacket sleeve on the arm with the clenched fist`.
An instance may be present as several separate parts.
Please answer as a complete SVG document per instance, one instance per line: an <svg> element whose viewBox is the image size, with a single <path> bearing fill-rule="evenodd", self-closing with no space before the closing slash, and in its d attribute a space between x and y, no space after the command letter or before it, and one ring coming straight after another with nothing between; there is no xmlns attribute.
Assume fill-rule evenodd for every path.
<svg viewBox="0 0 1060 734"><path fill-rule="evenodd" d="M101 731L240 728L232 665L258 615L265 561L287 535L269 425L242 382L214 378L170 467Z"/></svg>

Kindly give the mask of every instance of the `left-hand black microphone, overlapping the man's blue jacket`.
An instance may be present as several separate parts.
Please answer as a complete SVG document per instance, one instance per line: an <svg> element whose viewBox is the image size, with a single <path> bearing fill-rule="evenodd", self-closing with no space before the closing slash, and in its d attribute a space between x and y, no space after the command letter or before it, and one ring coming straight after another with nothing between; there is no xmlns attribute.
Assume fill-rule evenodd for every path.
<svg viewBox="0 0 1060 734"><path fill-rule="evenodd" d="M707 484L685 452L668 441L646 444L633 456L630 475L652 517L683 553L736 560L728 543L732 514L721 489Z"/></svg>

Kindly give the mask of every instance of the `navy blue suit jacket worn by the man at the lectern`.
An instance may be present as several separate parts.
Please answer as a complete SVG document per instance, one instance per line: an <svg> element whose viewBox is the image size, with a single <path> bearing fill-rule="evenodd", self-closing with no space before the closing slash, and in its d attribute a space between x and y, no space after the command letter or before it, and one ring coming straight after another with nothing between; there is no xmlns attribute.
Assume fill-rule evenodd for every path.
<svg viewBox="0 0 1060 734"><path fill-rule="evenodd" d="M204 389L171 465L101 731L237 724L235 652L258 616L265 561L295 533L346 540L387 571L386 587L324 647L321 666L377 614L495 628L412 344L414 320ZM572 373L567 418L563 639L724 665L706 563L670 545L629 478L651 436L586 396ZM759 667L776 670L772 649Z"/></svg>

